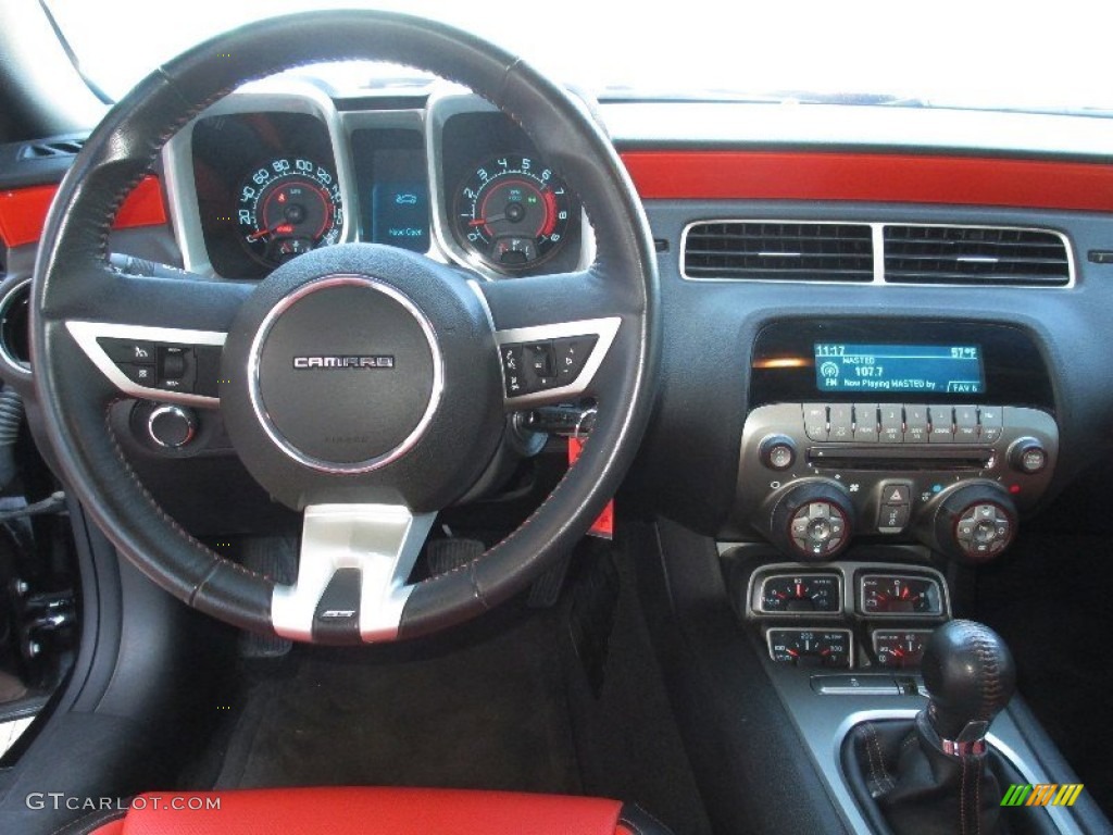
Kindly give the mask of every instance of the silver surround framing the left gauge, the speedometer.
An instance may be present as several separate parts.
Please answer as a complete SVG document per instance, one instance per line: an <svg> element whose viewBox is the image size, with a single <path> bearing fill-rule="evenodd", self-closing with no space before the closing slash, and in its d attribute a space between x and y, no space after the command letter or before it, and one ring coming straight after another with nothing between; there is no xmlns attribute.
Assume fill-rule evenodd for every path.
<svg viewBox="0 0 1113 835"><path fill-rule="evenodd" d="M194 181L193 131L199 119L210 116L255 112L296 112L318 118L328 131L328 141L336 167L336 180L344 205L341 240L355 239L359 212L358 191L352 171L347 137L335 102L315 86L289 77L274 76L244 85L198 114L162 147L164 180L170 226L181 249L184 267L190 273L215 276L201 230ZM221 276L236 278L237 276Z"/></svg>

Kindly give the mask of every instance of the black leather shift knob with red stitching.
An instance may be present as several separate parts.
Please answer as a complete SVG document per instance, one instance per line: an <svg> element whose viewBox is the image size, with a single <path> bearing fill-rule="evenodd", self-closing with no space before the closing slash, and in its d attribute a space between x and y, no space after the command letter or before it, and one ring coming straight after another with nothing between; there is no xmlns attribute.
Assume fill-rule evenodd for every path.
<svg viewBox="0 0 1113 835"><path fill-rule="evenodd" d="M932 633L922 664L927 721L944 741L981 743L1016 688L1016 666L999 635L973 620Z"/></svg>

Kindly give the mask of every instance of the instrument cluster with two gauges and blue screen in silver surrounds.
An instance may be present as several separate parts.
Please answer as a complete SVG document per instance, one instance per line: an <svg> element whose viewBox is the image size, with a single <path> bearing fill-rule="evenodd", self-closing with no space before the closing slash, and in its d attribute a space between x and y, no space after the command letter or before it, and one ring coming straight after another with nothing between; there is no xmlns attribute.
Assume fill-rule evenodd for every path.
<svg viewBox="0 0 1113 835"><path fill-rule="evenodd" d="M258 279L341 242L487 278L590 262L579 200L506 116L463 94L342 110L312 86L238 91L167 146L187 269ZM381 108L381 109L380 109Z"/></svg>

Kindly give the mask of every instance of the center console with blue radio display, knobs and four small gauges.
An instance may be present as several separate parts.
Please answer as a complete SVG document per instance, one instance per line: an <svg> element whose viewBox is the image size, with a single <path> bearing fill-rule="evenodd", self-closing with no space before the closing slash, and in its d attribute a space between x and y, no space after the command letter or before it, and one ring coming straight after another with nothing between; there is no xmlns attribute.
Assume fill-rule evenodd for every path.
<svg viewBox="0 0 1113 835"><path fill-rule="evenodd" d="M745 638L849 829L887 832L885 819L902 814L933 818L915 805L927 796L949 821L952 794L955 809L962 795L963 814L996 821L992 797L966 808L969 786L992 785L994 796L1002 780L1050 784L1067 773L1048 765L1053 746L1026 727L1018 701L997 715L1007 695L992 726L975 723L981 748L923 743L934 758L927 770L904 759L917 738L938 736L929 705L939 692L925 687L933 636L966 622L953 620L949 567L1006 551L1046 494L1057 455L1051 376L1018 328L784 320L757 335L720 563ZM897 734L884 779L878 733ZM987 757L995 775L983 768ZM969 782L972 764L983 783ZM893 804L885 819L881 795ZM1024 822L1011 814L1006 825L1080 831L1057 807Z"/></svg>

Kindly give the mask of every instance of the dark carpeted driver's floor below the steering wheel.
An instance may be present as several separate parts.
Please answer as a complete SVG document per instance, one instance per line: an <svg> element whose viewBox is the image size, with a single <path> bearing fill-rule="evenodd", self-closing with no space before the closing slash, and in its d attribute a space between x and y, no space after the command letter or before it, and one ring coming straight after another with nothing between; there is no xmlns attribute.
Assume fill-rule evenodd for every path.
<svg viewBox="0 0 1113 835"><path fill-rule="evenodd" d="M706 835L632 588L592 544L553 609L512 603L435 642L295 647L249 665L184 782L598 795Z"/></svg>

